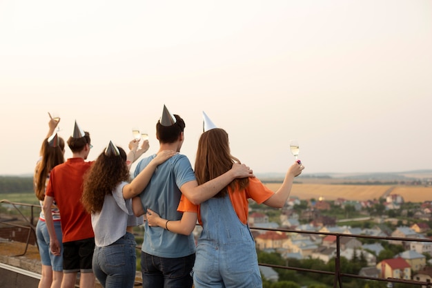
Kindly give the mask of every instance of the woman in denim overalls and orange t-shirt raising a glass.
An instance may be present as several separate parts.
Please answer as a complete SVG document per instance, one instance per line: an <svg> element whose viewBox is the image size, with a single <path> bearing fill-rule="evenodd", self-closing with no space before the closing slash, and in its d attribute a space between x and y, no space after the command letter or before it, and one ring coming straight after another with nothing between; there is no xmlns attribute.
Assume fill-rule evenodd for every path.
<svg viewBox="0 0 432 288"><path fill-rule="evenodd" d="M228 134L220 128L211 128L201 135L195 160L198 184L222 175L239 162L230 155L228 143ZM236 179L215 197L199 205L197 215L203 230L198 238L193 268L195 288L262 287L255 242L247 225L248 198L258 204L282 208L291 192L294 177L303 169L301 162L291 165L276 193L257 178ZM178 211L184 211L182 203L180 201ZM187 212L181 220L170 221L148 210L148 224L176 233L184 233L184 227L189 225L192 227L190 233L195 222L190 211ZM186 214L188 222L184 220Z"/></svg>

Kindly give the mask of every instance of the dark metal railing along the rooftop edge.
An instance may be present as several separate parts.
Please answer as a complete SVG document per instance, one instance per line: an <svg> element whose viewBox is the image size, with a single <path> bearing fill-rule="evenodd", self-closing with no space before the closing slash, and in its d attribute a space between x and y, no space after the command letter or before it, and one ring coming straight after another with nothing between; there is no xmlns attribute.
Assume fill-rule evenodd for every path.
<svg viewBox="0 0 432 288"><path fill-rule="evenodd" d="M26 204L26 203L17 203L17 202L10 202L9 200L1 200L0 204L9 204L14 207L14 209L21 215L21 218L23 222L25 222L27 225L21 225L16 223L11 223L10 221L5 221L0 218L0 224L7 224L10 226L20 227L23 229L28 229L28 236L26 241L26 249L23 253L17 256L23 256L26 254L30 236L33 235L36 236L35 233L35 208L41 209L39 205L35 204ZM27 209L30 208L30 215L26 216L26 213L23 213L19 207L24 207ZM391 283L404 283L404 284L410 284L410 285L419 285L423 287L431 287L431 282L420 282L415 280L406 280L406 279L398 279L398 278L375 278L375 277L367 277L367 276L360 276L355 275L351 273L343 273L341 271L340 267L340 239L342 237L351 237L351 238L367 238L367 239L375 239L375 240L395 240L395 241L403 241L403 242L409 242L409 241L421 241L421 242L432 242L432 239L419 239L419 238L397 238L397 237L381 237L381 236L367 236L367 235L354 235L354 234L346 234L346 233L331 233L331 232L317 232L317 231L298 231L298 230L291 230L291 229L271 229L271 228L259 228L259 227L251 227L251 230L262 230L262 231L277 231L282 233L301 233L301 234L314 234L314 235L322 235L322 236L335 236L336 237L336 257L335 257L335 271L324 271L324 270L315 270L315 269L305 269L300 267L289 267L288 265L282 266L282 265L272 265L268 263L258 263L261 266L266 267L272 267L277 269L287 269L287 270L293 270L293 271L301 271L301 272L307 272L307 273L320 273L323 275L332 275L334 277L333 281L333 288L337 288L339 286L342 288L342 278L355 278L355 279L363 279L363 280L376 280L376 281L382 281L382 282L391 282ZM137 247L137 249L141 249L141 247Z"/></svg>

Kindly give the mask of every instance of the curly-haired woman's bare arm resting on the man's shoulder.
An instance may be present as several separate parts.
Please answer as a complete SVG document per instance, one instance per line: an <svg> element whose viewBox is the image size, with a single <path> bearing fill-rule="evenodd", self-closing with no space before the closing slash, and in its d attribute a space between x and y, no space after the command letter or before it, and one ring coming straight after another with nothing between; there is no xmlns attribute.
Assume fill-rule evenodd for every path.
<svg viewBox="0 0 432 288"><path fill-rule="evenodd" d="M148 182L150 182L153 172L155 172L157 166L159 166L161 163L164 163L175 154L177 154L177 152L173 150L164 150L157 153L156 157L150 161L146 168L144 168L144 170L141 171L137 177L135 177L135 179L130 182L130 184L126 184L123 187L123 198L130 199L139 195L139 193L141 193L144 188L146 188Z"/></svg>

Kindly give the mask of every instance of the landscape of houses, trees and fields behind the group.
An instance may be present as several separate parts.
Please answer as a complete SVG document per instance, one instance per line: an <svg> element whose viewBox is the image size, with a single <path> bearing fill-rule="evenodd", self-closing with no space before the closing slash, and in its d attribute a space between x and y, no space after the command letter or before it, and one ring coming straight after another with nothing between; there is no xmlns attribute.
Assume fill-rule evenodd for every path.
<svg viewBox="0 0 432 288"><path fill-rule="evenodd" d="M257 177L273 191L277 191L284 180L283 174ZM32 191L32 177L0 176L0 200L34 204L37 210L34 212L39 213L39 203ZM349 175L305 173L295 178L290 198L283 209L251 201L248 221L257 245L258 262L277 267L283 267L289 262L289 267L296 269L334 271L337 248L334 242L328 240L330 236L322 235L323 232L366 237L424 238L426 240L422 241L426 242L419 242L423 243L421 246L412 244L410 247L409 242L400 244L386 240L368 240L362 239L362 236L349 238L353 241L345 243L342 237L340 253L343 273L373 278L389 277L377 267L385 265L390 259L400 258L406 253L417 253L421 264L410 267L409 273L404 272L401 277L426 281L427 278L422 278L423 269L431 270L431 276L426 277L432 277L431 200L432 171ZM0 211L6 219L12 214L18 215L5 202L1 203ZM135 228L135 239L141 244L141 229L144 228ZM418 232L413 232L415 228L419 228ZM267 231L268 229L273 231ZM291 232L284 232L284 229ZM316 234L304 234L304 231ZM406 231L411 234L403 234ZM198 233L199 227L195 229L194 235L197 236ZM379 250L375 251L376 247ZM137 271L140 269L139 258L137 253ZM334 279L333 276L323 278L320 274L296 273L280 268L260 266L260 269L264 288L328 288L332 286ZM368 271L373 274L366 274ZM355 279L344 279L344 285L351 288L389 287L386 282ZM394 287L411 288L413 285L398 284Z"/></svg>

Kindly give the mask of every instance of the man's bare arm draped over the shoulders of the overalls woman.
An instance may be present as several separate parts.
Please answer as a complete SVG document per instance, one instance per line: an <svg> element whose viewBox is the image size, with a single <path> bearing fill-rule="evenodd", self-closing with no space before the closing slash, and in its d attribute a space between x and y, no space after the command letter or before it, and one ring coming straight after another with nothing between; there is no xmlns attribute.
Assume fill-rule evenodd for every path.
<svg viewBox="0 0 432 288"><path fill-rule="evenodd" d="M197 181L186 182L180 187L190 202L195 205L212 198L219 191L237 178L255 177L253 171L245 164L234 163L233 167L226 173L198 186Z"/></svg>

